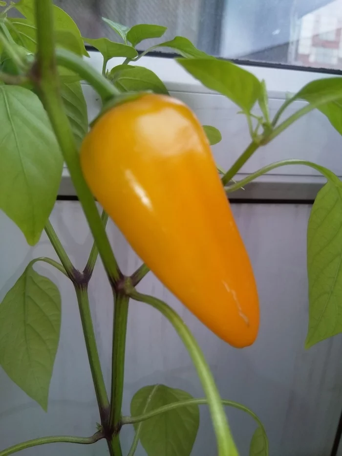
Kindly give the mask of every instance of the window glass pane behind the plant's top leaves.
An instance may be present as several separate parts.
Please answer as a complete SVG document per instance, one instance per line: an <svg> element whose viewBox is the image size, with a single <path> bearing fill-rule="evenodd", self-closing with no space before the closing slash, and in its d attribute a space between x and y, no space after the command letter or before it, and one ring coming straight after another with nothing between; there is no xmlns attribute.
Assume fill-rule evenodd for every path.
<svg viewBox="0 0 342 456"><path fill-rule="evenodd" d="M55 4L88 38L120 40L101 17L128 26L156 23L168 27L162 40L185 36L201 50L225 58L342 69L342 0L55 0ZM158 42L147 40L138 48Z"/></svg>

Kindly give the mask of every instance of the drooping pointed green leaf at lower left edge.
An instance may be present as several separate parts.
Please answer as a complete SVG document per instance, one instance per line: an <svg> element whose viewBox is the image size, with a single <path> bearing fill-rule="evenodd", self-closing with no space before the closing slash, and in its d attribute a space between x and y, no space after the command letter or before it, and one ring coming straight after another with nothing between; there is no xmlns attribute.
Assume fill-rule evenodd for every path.
<svg viewBox="0 0 342 456"><path fill-rule="evenodd" d="M0 304L0 364L45 411L60 326L58 288L29 265Z"/></svg>

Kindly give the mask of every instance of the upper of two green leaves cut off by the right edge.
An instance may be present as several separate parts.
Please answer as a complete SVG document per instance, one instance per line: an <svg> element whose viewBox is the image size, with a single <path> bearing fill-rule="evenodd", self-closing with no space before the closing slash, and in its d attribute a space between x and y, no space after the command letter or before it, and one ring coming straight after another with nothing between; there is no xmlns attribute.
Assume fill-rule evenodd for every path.
<svg viewBox="0 0 342 456"><path fill-rule="evenodd" d="M311 105L316 106L327 116L331 125L342 134L341 78L325 78L312 81L299 90L292 98L292 101L296 99L306 100ZM324 103L324 100L327 100L327 102Z"/></svg>

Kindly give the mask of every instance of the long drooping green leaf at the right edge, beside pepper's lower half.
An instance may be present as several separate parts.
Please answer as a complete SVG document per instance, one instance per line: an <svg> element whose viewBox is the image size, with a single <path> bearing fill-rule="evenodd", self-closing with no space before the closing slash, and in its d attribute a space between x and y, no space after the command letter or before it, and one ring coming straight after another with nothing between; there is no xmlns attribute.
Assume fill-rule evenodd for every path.
<svg viewBox="0 0 342 456"><path fill-rule="evenodd" d="M328 180L308 223L309 327L305 347L342 332L342 183Z"/></svg>

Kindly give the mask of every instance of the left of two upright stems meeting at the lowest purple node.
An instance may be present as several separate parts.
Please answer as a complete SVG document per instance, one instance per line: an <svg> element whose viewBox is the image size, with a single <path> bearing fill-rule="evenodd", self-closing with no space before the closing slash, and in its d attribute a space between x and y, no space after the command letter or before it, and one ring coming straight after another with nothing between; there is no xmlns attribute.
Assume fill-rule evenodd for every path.
<svg viewBox="0 0 342 456"><path fill-rule="evenodd" d="M91 313L88 300L88 292L84 287L75 287L77 302L80 309L83 333L85 336L85 347L88 354L91 376L94 383L95 394L101 416L101 423L106 426L108 421L109 402L106 385L97 351L95 332L91 320Z"/></svg>

